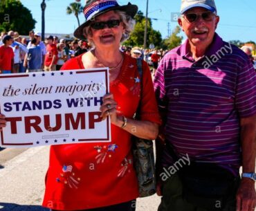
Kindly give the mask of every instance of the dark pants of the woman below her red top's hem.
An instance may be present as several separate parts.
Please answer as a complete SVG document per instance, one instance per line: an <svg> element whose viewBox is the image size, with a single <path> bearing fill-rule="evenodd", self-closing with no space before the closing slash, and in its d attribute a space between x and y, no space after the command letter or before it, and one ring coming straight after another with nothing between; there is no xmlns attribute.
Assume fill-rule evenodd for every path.
<svg viewBox="0 0 256 211"><path fill-rule="evenodd" d="M118 203L104 208L95 208L90 210L73 210L73 211L135 211L136 199L125 203ZM53 210L58 211L58 210Z"/></svg>

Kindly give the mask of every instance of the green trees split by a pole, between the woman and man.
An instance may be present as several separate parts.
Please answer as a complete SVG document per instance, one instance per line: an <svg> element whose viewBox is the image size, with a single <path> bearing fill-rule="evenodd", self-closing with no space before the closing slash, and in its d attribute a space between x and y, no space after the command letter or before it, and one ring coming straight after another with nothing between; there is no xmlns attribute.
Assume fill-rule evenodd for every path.
<svg viewBox="0 0 256 211"><path fill-rule="evenodd" d="M143 46L144 32L145 32L145 16L143 12L138 11L134 17L136 24L134 30L131 33L129 39L124 43L126 46ZM148 19L147 23L147 46L154 44L160 46L162 42L162 35L159 31L152 28L152 21Z"/></svg>

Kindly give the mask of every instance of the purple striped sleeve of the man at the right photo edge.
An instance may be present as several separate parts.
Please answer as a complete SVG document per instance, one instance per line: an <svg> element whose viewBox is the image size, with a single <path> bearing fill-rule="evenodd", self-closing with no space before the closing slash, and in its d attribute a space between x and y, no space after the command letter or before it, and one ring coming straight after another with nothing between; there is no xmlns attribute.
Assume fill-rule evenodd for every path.
<svg viewBox="0 0 256 211"><path fill-rule="evenodd" d="M256 114L256 73L248 58L237 73L235 107L241 118Z"/></svg>

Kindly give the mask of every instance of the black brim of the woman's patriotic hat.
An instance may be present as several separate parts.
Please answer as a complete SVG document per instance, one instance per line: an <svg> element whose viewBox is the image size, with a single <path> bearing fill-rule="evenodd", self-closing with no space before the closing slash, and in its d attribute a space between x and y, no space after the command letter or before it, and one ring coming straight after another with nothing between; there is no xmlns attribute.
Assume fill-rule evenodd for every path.
<svg viewBox="0 0 256 211"><path fill-rule="evenodd" d="M112 8L107 8L106 10L102 10L101 12L97 13L97 15L95 15L94 17L102 15L105 12L115 11L115 10L123 11L127 15L131 16L131 18L134 18L134 16L138 11L138 6L134 4L127 4L125 6L116 6ZM77 29L75 29L74 36L77 37L78 39L86 39L86 37L84 37L83 35L83 30L84 30L84 27L89 26L89 24L91 24L91 20L85 21L84 24L82 24Z"/></svg>

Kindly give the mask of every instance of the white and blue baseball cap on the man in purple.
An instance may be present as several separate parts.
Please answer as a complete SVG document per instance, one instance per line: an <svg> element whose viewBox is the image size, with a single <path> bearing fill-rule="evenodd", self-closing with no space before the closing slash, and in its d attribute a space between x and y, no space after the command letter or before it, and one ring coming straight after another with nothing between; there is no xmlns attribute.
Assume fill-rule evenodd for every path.
<svg viewBox="0 0 256 211"><path fill-rule="evenodd" d="M217 12L214 0L181 0L181 14L196 7L205 8L211 12Z"/></svg>

